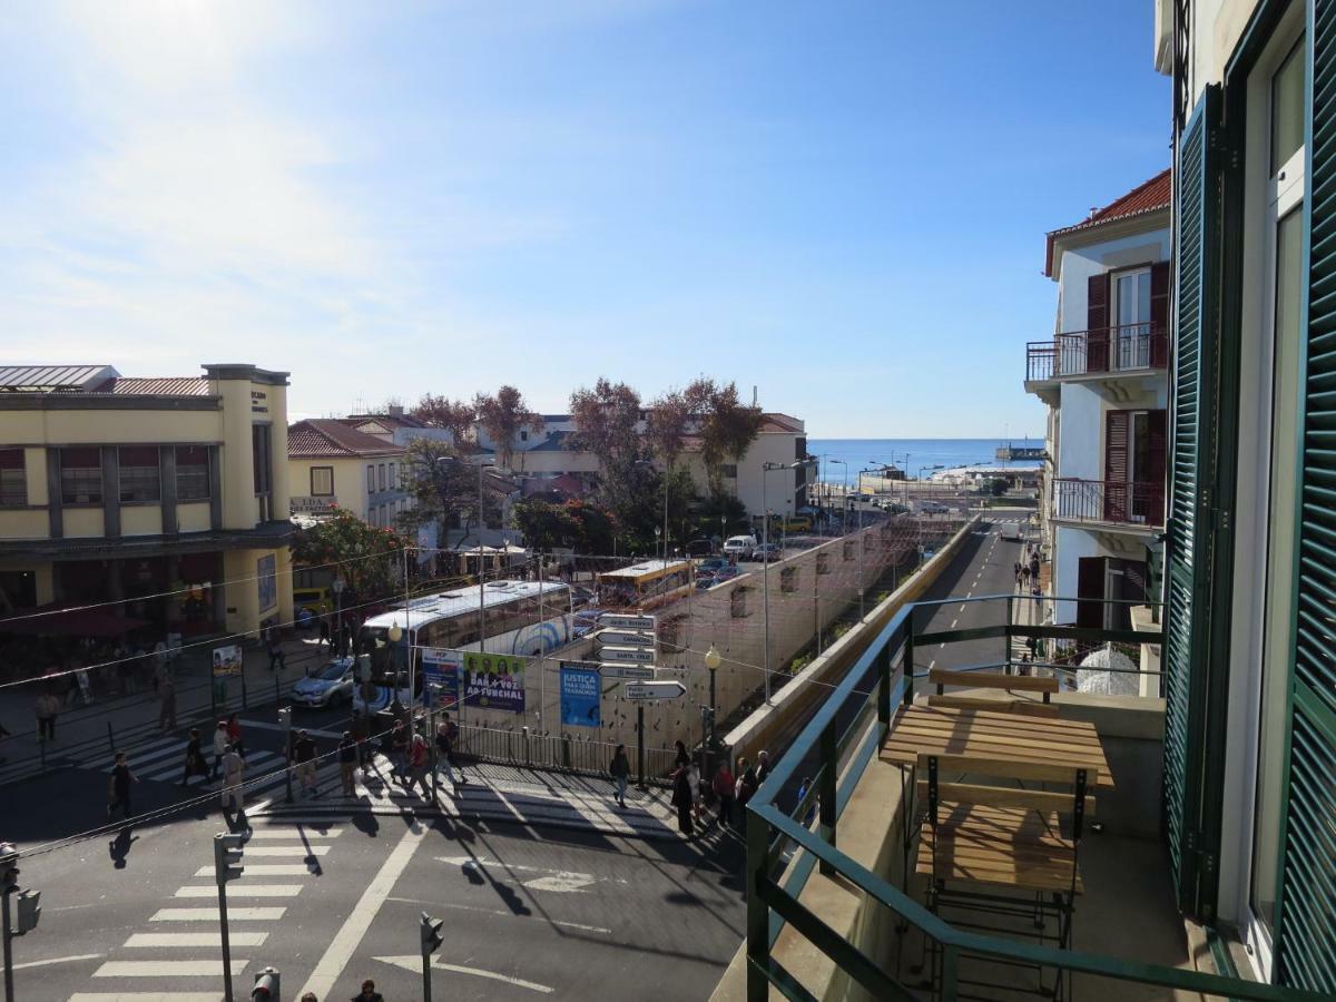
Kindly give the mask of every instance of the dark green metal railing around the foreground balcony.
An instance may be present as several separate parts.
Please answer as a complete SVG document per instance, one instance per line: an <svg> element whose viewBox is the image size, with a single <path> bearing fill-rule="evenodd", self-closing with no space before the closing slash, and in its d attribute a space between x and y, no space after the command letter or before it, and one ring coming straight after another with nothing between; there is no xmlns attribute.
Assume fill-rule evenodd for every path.
<svg viewBox="0 0 1336 1002"><path fill-rule="evenodd" d="M931 609L938 605L981 601L1007 603L1006 621L973 629L915 632L915 611L922 609L925 615L931 615ZM908 679L904 677L904 667L916 664L915 645L934 649L939 644L982 637L1005 639L1010 645L1013 637L1029 636L1049 644L1162 641L1157 632L1018 624L1011 615L1014 601L1022 600L1013 596L978 596L963 600L955 597L918 603L900 609L867 645L854 668L831 692L799 737L779 759L762 788L747 803L748 1002L764 1002L771 998L772 989L790 999L815 1002L816 997L772 953L786 925L874 998L912 1002L931 993L931 997L941 1002L955 1002L962 990L961 965L967 958L985 958L1005 965L1043 966L1093 978L1157 986L1169 990L1165 991L1166 995L1173 994L1172 990L1178 990L1246 1002L1320 1002L1327 998L1316 991L1078 950L1059 950L975 933L951 925L929 911L906 891L895 887L891 880L860 866L836 847L840 815L848 806L868 763L876 756L894 725L895 704L912 701L915 679L926 681L927 672L922 665L911 668ZM871 685L867 684L870 673L875 679ZM918 683L921 689L923 681ZM814 763L815 771L812 771ZM799 770L812 778L808 791L791 811L783 810L776 799L782 791L792 788ZM814 811L818 823L808 827L806 819ZM790 850L795 854L792 866L787 866L791 858ZM926 991L919 983L911 986L902 982L898 971L883 967L878 959L863 953L858 945L851 943L800 900L808 878L818 867L822 874L839 876L846 887L866 894L870 902L887 908L906 929L918 930L926 939L937 943L941 961L933 971L933 983Z"/></svg>

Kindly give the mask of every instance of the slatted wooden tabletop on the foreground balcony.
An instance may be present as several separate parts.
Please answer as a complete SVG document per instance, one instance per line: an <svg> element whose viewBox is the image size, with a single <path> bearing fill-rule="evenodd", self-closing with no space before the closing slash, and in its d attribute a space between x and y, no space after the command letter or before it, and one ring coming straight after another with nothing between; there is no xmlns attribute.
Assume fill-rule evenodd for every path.
<svg viewBox="0 0 1336 1002"><path fill-rule="evenodd" d="M951 707L902 705L882 744L882 760L912 770L922 755L1085 767L1092 786L1113 790L1094 724L1061 717Z"/></svg>

